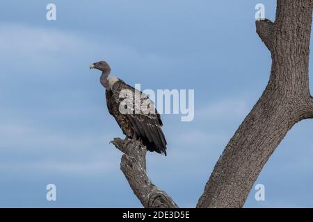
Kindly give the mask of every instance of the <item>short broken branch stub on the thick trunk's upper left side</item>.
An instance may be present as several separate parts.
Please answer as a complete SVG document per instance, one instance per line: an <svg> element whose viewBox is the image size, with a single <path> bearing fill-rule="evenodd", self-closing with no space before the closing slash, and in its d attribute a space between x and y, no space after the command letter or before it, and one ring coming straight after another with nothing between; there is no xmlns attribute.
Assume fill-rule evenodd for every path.
<svg viewBox="0 0 313 222"><path fill-rule="evenodd" d="M274 24L268 19L259 19L255 22L257 34L266 45L269 51L272 51L273 27Z"/></svg>

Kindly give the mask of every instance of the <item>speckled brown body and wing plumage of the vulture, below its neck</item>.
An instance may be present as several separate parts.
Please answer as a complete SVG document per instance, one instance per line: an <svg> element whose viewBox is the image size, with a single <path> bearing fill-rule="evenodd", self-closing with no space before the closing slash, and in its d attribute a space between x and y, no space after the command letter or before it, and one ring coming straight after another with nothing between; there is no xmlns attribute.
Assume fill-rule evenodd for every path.
<svg viewBox="0 0 313 222"><path fill-rule="evenodd" d="M128 89L133 92L134 110L131 114L122 114L119 110L120 103L124 100L120 98L120 92L122 89ZM137 93L135 93L137 91ZM150 109L154 112L146 113L140 110L140 104L138 106L135 103L135 96L141 96L141 104L149 103ZM157 153L163 153L166 155L166 138L163 134L161 126L160 114L155 110L152 101L150 101L145 94L139 92L134 87L127 85L122 80L115 82L109 89L106 89L106 104L108 106L109 113L118 122L118 125L122 129L122 132L129 138L133 138L136 134L136 139L141 140L148 151L156 151Z"/></svg>

